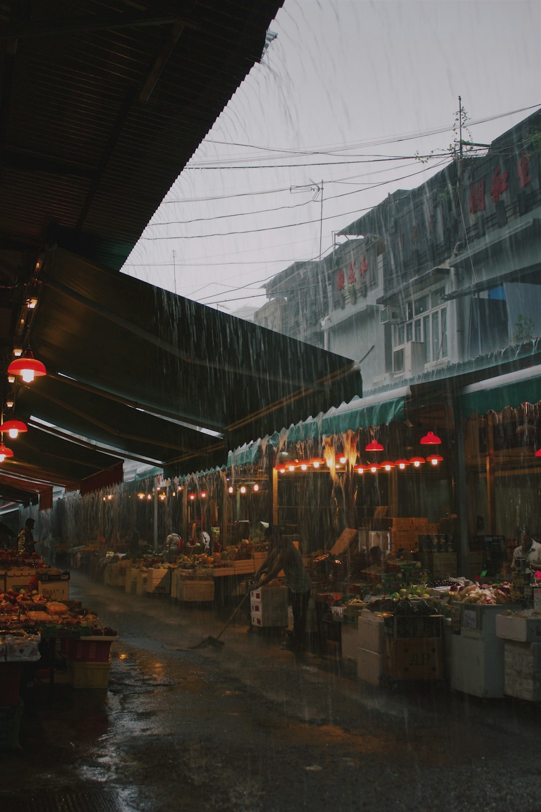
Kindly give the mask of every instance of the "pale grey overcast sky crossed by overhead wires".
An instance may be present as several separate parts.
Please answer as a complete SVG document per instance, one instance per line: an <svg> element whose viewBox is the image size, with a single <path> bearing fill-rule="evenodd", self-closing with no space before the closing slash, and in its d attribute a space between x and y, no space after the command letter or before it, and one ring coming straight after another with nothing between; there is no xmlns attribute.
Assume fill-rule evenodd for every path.
<svg viewBox="0 0 541 812"><path fill-rule="evenodd" d="M320 255L320 195L292 186L323 181L325 255L333 231L439 171L448 158L414 156L446 151L459 94L492 119L470 126L481 143L541 103L539 0L285 0L271 30L123 269L230 313Z"/></svg>

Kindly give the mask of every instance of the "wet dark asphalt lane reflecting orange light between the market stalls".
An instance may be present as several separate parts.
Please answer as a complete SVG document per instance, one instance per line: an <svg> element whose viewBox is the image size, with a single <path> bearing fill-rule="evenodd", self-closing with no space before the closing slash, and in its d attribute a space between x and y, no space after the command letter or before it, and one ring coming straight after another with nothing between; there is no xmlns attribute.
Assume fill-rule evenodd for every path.
<svg viewBox="0 0 541 812"><path fill-rule="evenodd" d="M118 629L109 690L24 693L2 812L68 789L106 790L122 812L541 810L537 706L367 685L334 650L281 650L247 614L223 649L182 650L216 636L231 607L138 598L80 573L71 598Z"/></svg>

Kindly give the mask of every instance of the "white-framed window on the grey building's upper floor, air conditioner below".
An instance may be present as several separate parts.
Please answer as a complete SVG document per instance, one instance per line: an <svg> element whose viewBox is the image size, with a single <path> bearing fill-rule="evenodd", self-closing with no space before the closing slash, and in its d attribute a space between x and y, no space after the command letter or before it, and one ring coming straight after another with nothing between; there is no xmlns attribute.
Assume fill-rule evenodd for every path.
<svg viewBox="0 0 541 812"><path fill-rule="evenodd" d="M394 348L410 341L424 344L425 364L447 358L447 303L444 287L434 288L404 303L404 322L394 327Z"/></svg>

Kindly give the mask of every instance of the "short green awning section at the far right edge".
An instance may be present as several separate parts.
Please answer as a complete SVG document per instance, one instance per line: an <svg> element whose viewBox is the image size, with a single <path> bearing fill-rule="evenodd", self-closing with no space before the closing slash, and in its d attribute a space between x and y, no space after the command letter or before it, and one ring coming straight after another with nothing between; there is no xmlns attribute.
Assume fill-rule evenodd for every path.
<svg viewBox="0 0 541 812"><path fill-rule="evenodd" d="M538 373L538 374L535 374ZM488 378L464 388L460 396L462 417L471 414L501 412L503 408L518 408L521 404L537 404L541 400L541 369L539 366L517 373Z"/></svg>

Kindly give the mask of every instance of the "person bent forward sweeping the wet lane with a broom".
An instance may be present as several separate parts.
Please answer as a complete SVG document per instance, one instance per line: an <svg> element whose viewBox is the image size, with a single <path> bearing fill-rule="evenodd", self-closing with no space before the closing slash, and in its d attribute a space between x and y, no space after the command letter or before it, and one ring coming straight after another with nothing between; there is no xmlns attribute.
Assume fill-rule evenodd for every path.
<svg viewBox="0 0 541 812"><path fill-rule="evenodd" d="M287 648L298 651L303 647L306 635L308 601L311 594L311 577L304 568L303 559L292 542L281 534L280 527L273 527L270 536L270 552L255 574L252 590L273 581L283 569L290 588L293 612L293 633Z"/></svg>

